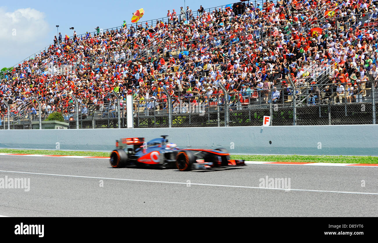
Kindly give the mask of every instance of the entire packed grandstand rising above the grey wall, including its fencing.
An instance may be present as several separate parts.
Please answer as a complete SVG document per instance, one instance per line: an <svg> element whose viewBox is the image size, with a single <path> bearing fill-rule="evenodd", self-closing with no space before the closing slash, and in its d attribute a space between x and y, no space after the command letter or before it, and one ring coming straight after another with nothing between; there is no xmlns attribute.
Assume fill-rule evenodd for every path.
<svg viewBox="0 0 378 243"><path fill-rule="evenodd" d="M123 128L126 95L140 128L375 124L375 4L244 1L65 36L0 73L0 129L53 112Z"/></svg>

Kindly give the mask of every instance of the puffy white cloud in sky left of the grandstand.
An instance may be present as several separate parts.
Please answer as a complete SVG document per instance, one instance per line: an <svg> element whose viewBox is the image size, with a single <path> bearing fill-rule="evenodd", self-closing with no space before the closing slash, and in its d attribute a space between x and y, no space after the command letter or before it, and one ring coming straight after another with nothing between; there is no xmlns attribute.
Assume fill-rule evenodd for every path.
<svg viewBox="0 0 378 243"><path fill-rule="evenodd" d="M0 69L16 64L49 44L44 44L48 32L43 12L31 8L6 12L0 8Z"/></svg>

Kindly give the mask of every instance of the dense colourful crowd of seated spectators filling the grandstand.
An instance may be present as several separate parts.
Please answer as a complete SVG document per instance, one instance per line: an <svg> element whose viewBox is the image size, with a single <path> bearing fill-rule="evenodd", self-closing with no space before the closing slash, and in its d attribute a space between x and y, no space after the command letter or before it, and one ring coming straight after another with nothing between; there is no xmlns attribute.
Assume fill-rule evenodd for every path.
<svg viewBox="0 0 378 243"><path fill-rule="evenodd" d="M139 103L154 99L161 101L159 109L165 109L163 88L177 100L216 95L216 101L224 103L219 87L223 84L228 92L240 92L239 98L230 96L232 107L254 90L259 90L263 103L288 97L289 77L298 88L314 85L310 104L326 98L362 101L361 90L376 86L368 84L366 75L369 72L374 79L378 75L378 9L372 0L267 0L256 6L253 2L241 2L237 10L206 11L199 6L197 17L189 6L181 7L167 11L166 23L124 25L104 32L96 27L94 36L60 34L47 51L3 74L0 98L16 109L37 96L43 110L53 112L72 106L71 94L88 106L115 103L114 90L122 100L126 95ZM324 11L334 13L324 17ZM318 36L311 36L314 27L322 28ZM95 63L91 57L96 57ZM70 72L46 72L50 64L59 69L73 63ZM321 69L333 67L321 84L307 72L307 67L319 63L325 64L319 65ZM342 83L342 88L335 83ZM2 104L1 112L5 110Z"/></svg>

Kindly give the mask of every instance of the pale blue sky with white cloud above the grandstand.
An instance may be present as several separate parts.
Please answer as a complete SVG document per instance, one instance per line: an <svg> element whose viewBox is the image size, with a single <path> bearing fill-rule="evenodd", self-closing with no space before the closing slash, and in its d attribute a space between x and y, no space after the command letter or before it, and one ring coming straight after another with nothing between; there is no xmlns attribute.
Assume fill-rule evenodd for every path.
<svg viewBox="0 0 378 243"><path fill-rule="evenodd" d="M144 8L143 21L165 17L167 10L180 11L184 0L165 1L98 1L82 0L63 2L6 1L0 3L0 69L11 67L28 58L53 42L59 32L72 36L74 27L77 34L100 28L120 26L123 20L131 23L132 12ZM230 0L187 0L186 6L197 10L232 3ZM6 4L4 6L4 4ZM144 23L144 22L143 22Z"/></svg>

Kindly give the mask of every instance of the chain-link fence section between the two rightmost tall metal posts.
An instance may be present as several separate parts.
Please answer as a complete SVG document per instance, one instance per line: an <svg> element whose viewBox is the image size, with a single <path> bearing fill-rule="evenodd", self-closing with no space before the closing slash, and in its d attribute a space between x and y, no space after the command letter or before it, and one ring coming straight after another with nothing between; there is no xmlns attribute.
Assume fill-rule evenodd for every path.
<svg viewBox="0 0 378 243"><path fill-rule="evenodd" d="M375 124L375 97L370 81L305 86L297 95L296 125Z"/></svg>

